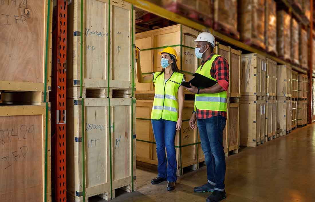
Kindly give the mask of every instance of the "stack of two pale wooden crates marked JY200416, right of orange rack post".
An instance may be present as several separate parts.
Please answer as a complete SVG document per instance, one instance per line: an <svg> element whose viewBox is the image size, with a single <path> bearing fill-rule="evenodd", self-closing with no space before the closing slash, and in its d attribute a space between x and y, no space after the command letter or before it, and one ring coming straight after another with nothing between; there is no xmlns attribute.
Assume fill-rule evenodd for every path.
<svg viewBox="0 0 315 202"><path fill-rule="evenodd" d="M108 200L136 190L135 12L123 1L76 0L68 16L68 200Z"/></svg>

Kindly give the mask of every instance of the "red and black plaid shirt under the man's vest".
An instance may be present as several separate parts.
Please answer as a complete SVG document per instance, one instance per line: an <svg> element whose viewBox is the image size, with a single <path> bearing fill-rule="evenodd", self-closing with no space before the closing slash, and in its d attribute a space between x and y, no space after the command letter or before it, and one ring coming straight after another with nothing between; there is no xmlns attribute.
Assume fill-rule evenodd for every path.
<svg viewBox="0 0 315 202"><path fill-rule="evenodd" d="M212 53L206 62L212 58L214 53ZM206 62L201 62L201 65L203 65ZM201 67L201 68L202 68ZM215 58L215 60L212 63L212 67L210 69L210 74L212 78L218 80L226 80L229 82L229 64L226 61L226 59L222 56L218 56ZM212 110L196 110L196 118L197 119L209 119L212 116L223 116L226 118L226 111L212 111Z"/></svg>

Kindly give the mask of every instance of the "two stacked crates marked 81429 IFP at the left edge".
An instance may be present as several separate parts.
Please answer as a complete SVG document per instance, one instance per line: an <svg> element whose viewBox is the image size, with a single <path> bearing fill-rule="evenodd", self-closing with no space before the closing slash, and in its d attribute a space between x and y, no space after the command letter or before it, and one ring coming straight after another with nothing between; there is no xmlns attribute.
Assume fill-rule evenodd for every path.
<svg viewBox="0 0 315 202"><path fill-rule="evenodd" d="M1 4L1 199L51 201L52 1Z"/></svg>

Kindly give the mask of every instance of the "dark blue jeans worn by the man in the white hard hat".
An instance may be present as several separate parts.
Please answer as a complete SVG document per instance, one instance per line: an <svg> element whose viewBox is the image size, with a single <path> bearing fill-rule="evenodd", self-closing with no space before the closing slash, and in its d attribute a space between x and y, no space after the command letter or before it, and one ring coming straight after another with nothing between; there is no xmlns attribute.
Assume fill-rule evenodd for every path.
<svg viewBox="0 0 315 202"><path fill-rule="evenodd" d="M209 119L197 119L201 148L207 164L208 182L215 186L215 190L225 188L225 156L223 148L223 129L226 118L212 116Z"/></svg>

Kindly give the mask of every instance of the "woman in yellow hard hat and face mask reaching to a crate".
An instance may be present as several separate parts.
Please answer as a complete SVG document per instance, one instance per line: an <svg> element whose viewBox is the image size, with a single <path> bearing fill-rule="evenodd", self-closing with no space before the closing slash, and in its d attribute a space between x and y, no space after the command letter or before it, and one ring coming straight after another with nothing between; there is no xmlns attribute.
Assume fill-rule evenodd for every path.
<svg viewBox="0 0 315 202"><path fill-rule="evenodd" d="M175 182L177 180L175 135L176 130L180 130L181 128L184 103L183 86L177 83L184 81L184 74L180 73L177 67L177 53L171 47L167 47L159 52L161 55L162 71L155 72L148 76L142 76L140 52L138 54L138 82L153 82L155 86L151 122L156 142L158 175L151 180L151 183L158 184L167 180L167 190L172 191L175 188ZM165 156L165 148L167 158Z"/></svg>

